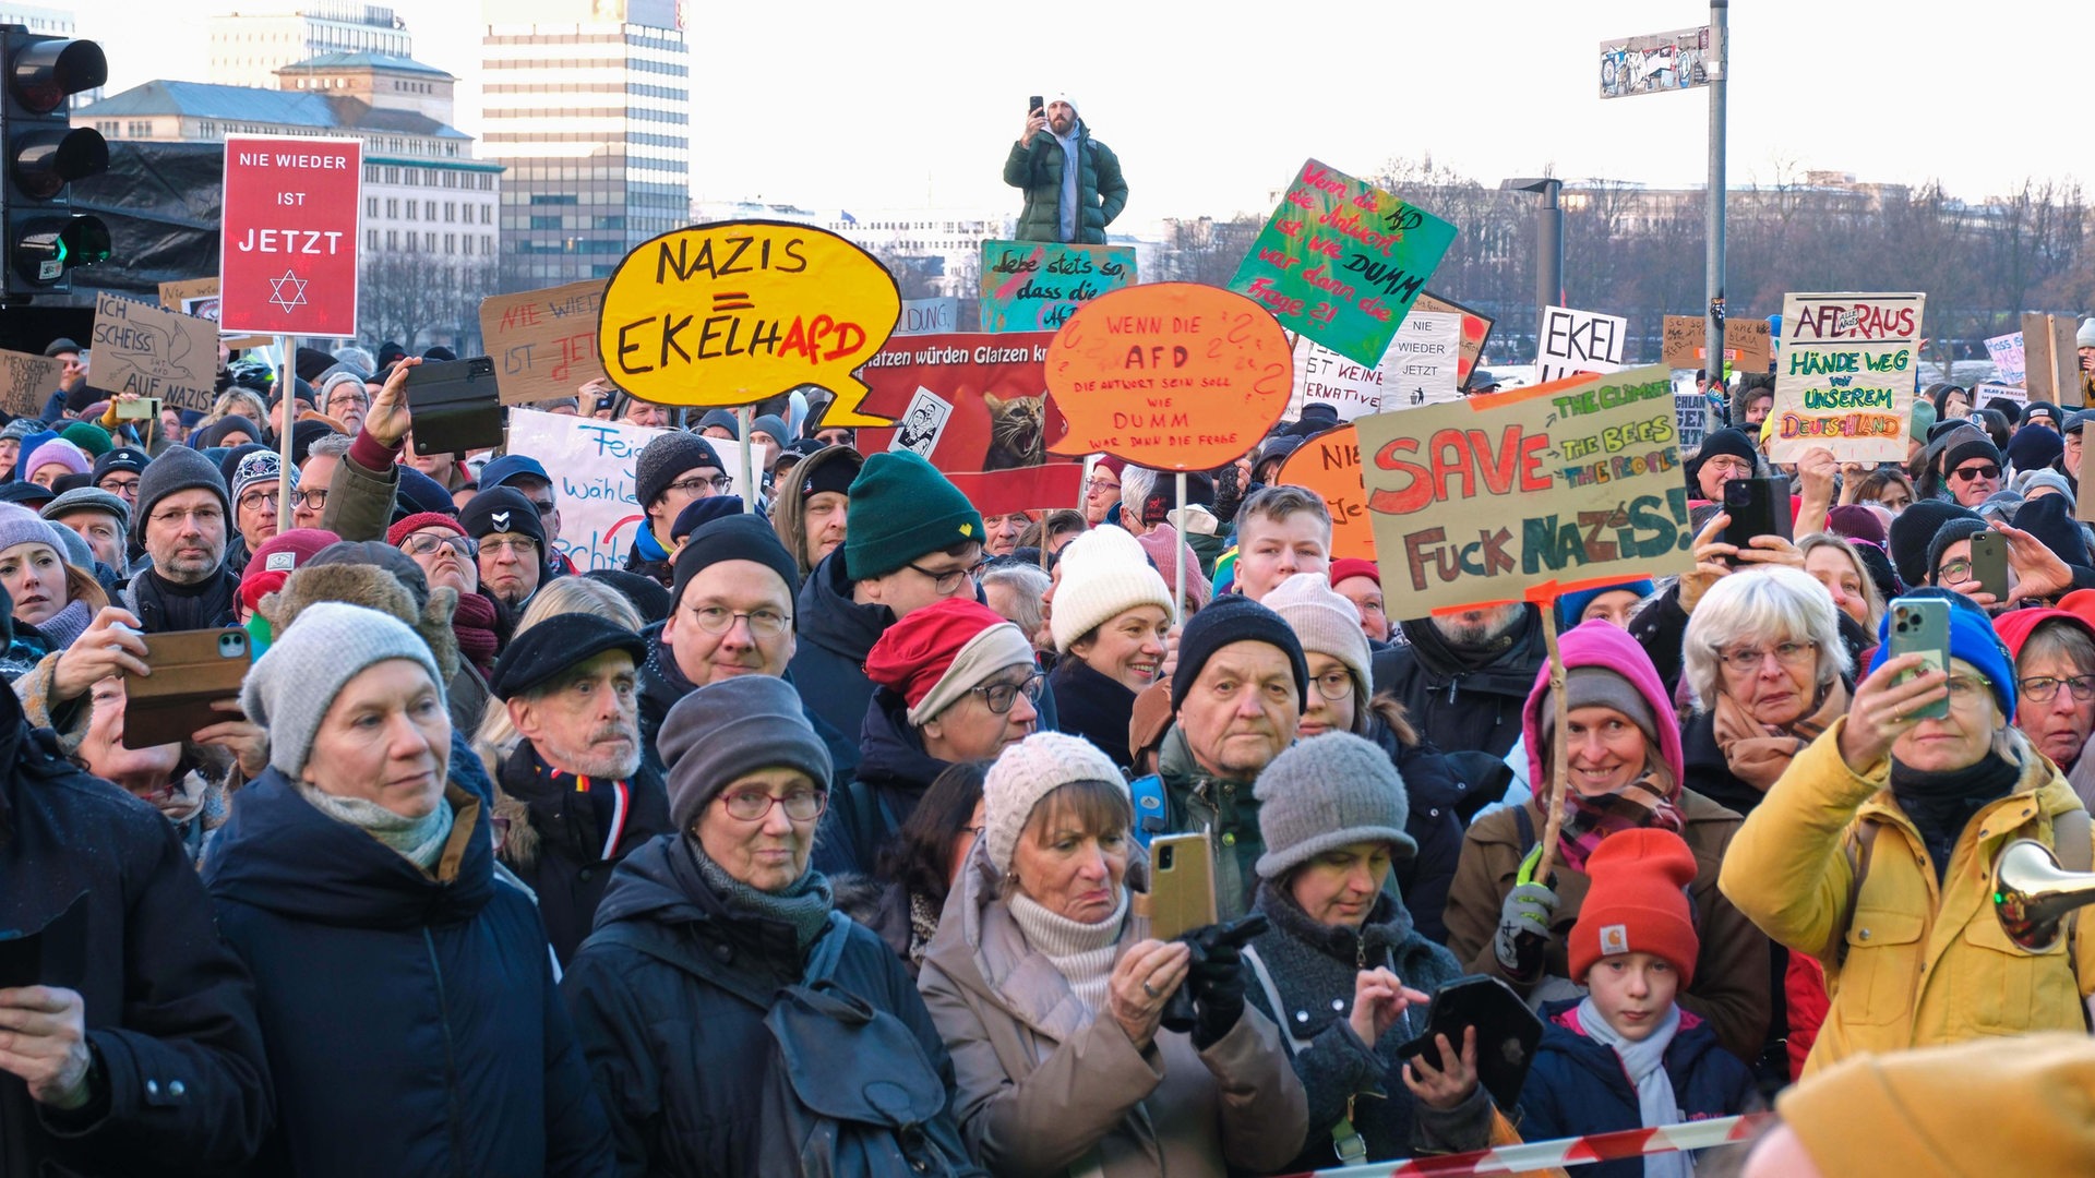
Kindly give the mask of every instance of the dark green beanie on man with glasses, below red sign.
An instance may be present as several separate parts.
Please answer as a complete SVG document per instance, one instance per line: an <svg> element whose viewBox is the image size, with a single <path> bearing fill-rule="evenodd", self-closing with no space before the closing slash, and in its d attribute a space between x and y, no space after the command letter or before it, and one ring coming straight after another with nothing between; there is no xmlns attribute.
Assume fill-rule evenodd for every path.
<svg viewBox="0 0 2095 1178"><path fill-rule="evenodd" d="M909 451L865 459L844 509L844 572L886 576L924 553L983 543L983 514L936 467Z"/></svg>

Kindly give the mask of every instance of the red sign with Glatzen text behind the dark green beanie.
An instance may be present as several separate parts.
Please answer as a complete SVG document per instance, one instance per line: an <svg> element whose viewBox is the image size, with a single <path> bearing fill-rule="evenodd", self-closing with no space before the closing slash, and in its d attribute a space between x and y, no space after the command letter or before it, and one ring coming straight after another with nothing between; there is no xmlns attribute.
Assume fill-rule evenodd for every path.
<svg viewBox="0 0 2095 1178"><path fill-rule="evenodd" d="M1048 331L911 335L865 363L859 453L916 451L985 516L1075 507L1083 461L1048 453Z"/></svg>

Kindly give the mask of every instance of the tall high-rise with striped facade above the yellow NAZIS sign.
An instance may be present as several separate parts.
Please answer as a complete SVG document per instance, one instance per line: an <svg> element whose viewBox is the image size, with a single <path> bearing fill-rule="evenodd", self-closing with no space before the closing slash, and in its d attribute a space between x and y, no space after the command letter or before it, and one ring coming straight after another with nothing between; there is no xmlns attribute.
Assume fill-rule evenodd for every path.
<svg viewBox="0 0 2095 1178"><path fill-rule="evenodd" d="M691 69L677 0L486 0L482 151L503 287L608 277L685 224Z"/></svg>

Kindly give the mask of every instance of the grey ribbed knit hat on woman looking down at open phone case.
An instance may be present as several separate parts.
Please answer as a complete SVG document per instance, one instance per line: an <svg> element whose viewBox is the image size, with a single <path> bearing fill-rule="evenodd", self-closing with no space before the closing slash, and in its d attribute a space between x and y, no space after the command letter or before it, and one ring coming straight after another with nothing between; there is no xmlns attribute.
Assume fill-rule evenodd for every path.
<svg viewBox="0 0 2095 1178"><path fill-rule="evenodd" d="M1412 803L1404 778L1372 740L1328 732L1288 746L1259 773L1259 878L1278 880L1324 851L1389 843L1397 859L1418 853L1404 832Z"/></svg>

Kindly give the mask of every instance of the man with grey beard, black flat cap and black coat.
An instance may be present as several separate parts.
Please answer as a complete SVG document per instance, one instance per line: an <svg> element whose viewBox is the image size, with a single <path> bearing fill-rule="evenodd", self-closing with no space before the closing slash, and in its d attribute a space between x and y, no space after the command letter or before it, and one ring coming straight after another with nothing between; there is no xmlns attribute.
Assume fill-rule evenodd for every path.
<svg viewBox="0 0 2095 1178"><path fill-rule="evenodd" d="M641 635L595 614L522 629L488 685L507 713L473 742L494 776L497 855L538 893L564 968L618 859L670 830L662 776L641 763Z"/></svg>

